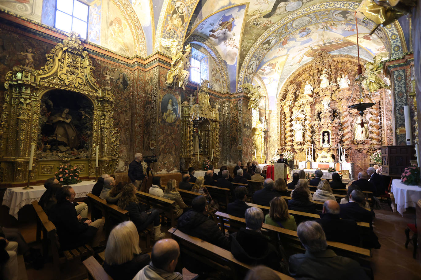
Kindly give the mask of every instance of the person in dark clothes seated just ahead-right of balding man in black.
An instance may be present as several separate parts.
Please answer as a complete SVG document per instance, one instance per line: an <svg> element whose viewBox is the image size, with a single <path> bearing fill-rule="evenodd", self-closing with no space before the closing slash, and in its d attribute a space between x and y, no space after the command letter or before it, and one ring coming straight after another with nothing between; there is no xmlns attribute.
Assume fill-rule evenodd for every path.
<svg viewBox="0 0 421 280"><path fill-rule="evenodd" d="M353 190L349 196L349 202L347 204L339 205L341 207L340 217L342 219L350 219L357 222L369 222L371 225L371 212L360 206L364 201L364 194L361 191Z"/></svg>

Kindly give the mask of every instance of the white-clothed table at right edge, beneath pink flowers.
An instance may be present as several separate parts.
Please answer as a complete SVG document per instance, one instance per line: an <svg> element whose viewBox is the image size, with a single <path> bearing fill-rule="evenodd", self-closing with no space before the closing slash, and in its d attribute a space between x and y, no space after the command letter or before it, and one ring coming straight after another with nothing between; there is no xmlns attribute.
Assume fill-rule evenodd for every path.
<svg viewBox="0 0 421 280"><path fill-rule="evenodd" d="M418 199L421 199L421 187L407 186L401 183L400 179L392 180L390 192L393 193L397 212L403 216L408 207L416 207Z"/></svg>

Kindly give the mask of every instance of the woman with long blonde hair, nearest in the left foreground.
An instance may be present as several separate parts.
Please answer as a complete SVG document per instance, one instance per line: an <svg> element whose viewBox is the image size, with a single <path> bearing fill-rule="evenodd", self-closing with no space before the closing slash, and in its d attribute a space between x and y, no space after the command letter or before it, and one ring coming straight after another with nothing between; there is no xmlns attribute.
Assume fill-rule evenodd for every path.
<svg viewBox="0 0 421 280"><path fill-rule="evenodd" d="M116 225L109 234L105 248L105 272L113 279L133 279L151 261L148 254L141 252L136 225L132 221Z"/></svg>

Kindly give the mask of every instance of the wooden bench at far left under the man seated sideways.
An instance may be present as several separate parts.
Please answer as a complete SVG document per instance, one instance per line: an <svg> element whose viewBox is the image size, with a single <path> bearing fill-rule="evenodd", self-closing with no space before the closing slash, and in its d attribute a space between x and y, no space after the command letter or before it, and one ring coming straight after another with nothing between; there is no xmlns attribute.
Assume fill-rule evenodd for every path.
<svg viewBox="0 0 421 280"><path fill-rule="evenodd" d="M47 215L45 214L42 207L38 204L38 201L32 201L32 206L37 213L37 219L39 219L40 225L43 228L43 240L45 241L45 246L43 248L44 257L48 256L48 247L51 248L51 254L53 255L53 270L56 279L62 279L60 276L60 267L62 264L71 261L80 261L82 257L92 256L93 249L88 244L78 247L77 249L62 251L60 250L59 238L56 233L56 227L53 222L48 220ZM83 279L83 275L79 275L80 279Z"/></svg>

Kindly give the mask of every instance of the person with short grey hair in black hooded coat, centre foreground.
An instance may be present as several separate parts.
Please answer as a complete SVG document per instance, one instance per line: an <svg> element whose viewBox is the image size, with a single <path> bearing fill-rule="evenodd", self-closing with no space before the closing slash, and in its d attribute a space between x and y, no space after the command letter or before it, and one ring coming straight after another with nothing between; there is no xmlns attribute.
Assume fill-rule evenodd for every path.
<svg viewBox="0 0 421 280"><path fill-rule="evenodd" d="M252 266L265 264L280 270L280 258L268 237L261 233L264 214L260 208L245 210L246 228L231 234L231 252L234 258Z"/></svg>

